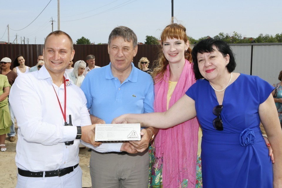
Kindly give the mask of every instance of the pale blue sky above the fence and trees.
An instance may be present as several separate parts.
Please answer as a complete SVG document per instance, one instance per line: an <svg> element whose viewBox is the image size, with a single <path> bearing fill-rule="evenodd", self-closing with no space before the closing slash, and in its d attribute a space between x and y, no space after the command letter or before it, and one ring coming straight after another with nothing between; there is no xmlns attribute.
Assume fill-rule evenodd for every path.
<svg viewBox="0 0 282 188"><path fill-rule="evenodd" d="M0 41L8 41L9 24L10 42L17 33L18 43L21 37L22 40L26 37L29 44L43 44L52 31L51 17L56 21L54 31L58 29L58 1L51 0L48 4L49 1L1 0ZM174 16L175 22L183 24L187 34L195 39L233 31L243 37L257 37L260 33L282 33L281 7L281 0L174 0ZM146 35L159 38L170 18L171 0L60 0L60 29L74 42L84 36L96 44L107 43L116 26L131 28L138 42L144 42Z"/></svg>

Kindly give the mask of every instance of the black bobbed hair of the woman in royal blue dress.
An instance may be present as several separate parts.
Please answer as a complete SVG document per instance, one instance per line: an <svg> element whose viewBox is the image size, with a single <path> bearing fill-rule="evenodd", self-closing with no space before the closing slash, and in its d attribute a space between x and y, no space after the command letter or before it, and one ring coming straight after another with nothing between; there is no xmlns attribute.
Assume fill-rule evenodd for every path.
<svg viewBox="0 0 282 188"><path fill-rule="evenodd" d="M194 68L193 69L194 69L196 80L204 78L201 75L199 67L198 67L197 54L198 53L210 53L210 52L213 52L215 50L214 47L224 57L226 57L227 54L229 55L229 57L230 57L229 63L226 66L228 72L231 73L231 72L233 72L235 70L235 67L236 67L235 56L234 56L234 53L233 53L232 49L230 48L229 44L227 44L224 41L214 40L213 38L204 39L204 40L200 41L199 43L197 43L194 46L194 48L192 49L192 59L193 59L193 63L194 63Z"/></svg>

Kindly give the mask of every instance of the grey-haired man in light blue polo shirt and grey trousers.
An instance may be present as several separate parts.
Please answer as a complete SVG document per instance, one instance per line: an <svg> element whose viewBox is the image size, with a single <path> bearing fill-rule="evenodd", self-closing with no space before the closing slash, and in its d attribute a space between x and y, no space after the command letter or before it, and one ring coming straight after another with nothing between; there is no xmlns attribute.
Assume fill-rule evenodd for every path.
<svg viewBox="0 0 282 188"><path fill-rule="evenodd" d="M91 117L92 122L108 124L122 114L153 112L152 77L131 62L137 53L135 33L124 26L114 28L109 36L108 53L110 64L90 71L81 85L87 108L95 116ZM157 129L149 127L141 131L141 141L92 147L92 187L148 187L147 147L156 132Z"/></svg>

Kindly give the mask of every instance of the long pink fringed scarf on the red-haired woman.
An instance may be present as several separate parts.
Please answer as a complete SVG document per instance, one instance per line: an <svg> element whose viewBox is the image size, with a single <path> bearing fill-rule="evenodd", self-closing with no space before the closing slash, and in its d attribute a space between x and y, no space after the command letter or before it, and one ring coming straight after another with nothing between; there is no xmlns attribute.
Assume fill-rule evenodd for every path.
<svg viewBox="0 0 282 188"><path fill-rule="evenodd" d="M185 60L185 65L169 101L169 108L179 100L187 89L195 83L193 64ZM167 110L167 92L169 83L169 65L164 78L155 84L154 111ZM193 118L168 129L160 129L155 138L155 165L162 164L163 187L178 188L188 179L188 187L196 184L196 161L199 123Z"/></svg>

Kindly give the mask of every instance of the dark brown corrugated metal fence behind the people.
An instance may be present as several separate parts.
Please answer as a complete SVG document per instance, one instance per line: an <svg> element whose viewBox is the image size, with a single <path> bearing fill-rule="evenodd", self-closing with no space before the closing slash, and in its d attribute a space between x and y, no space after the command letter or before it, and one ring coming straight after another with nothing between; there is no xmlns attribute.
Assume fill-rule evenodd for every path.
<svg viewBox="0 0 282 188"><path fill-rule="evenodd" d="M86 56L92 54L95 56L95 65L105 66L110 63L108 54L108 45L73 45L75 50L74 62L78 60L84 60L86 62ZM160 45L138 45L138 51L133 58L133 62L136 67L141 57L147 57L150 61L149 68L153 65L153 61L157 59L158 50ZM17 55L23 55L25 58L25 65L32 67L37 63L37 57L42 54L43 44L0 44L0 59L9 57L13 61Z"/></svg>

